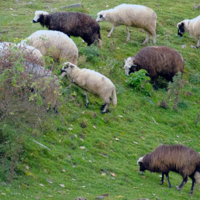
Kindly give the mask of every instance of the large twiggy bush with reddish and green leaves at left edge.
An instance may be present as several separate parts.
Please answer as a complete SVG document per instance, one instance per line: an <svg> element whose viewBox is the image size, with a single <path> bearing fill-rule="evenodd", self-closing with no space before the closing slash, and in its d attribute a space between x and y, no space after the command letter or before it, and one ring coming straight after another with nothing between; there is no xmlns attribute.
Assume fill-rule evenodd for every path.
<svg viewBox="0 0 200 200"><path fill-rule="evenodd" d="M38 74L38 65L15 48L0 57L0 176L9 182L26 138L41 126L54 101L54 77ZM42 69L42 67L40 68ZM44 69L44 68L43 68ZM49 96L48 96L49 94ZM54 94L54 93L53 93Z"/></svg>

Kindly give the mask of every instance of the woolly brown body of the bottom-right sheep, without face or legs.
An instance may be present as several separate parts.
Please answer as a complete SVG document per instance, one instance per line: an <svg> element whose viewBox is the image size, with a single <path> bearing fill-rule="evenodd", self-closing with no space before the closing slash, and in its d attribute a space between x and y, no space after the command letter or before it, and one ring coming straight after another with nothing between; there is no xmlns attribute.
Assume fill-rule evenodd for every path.
<svg viewBox="0 0 200 200"><path fill-rule="evenodd" d="M191 175L200 165L199 154L184 145L162 145L143 157L142 163L151 172Z"/></svg>

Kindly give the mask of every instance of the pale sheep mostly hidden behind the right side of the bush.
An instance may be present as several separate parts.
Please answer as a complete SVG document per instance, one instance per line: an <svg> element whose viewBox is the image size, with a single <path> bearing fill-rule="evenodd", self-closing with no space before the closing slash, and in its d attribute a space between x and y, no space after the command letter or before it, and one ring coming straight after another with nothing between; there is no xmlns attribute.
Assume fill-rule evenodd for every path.
<svg viewBox="0 0 200 200"><path fill-rule="evenodd" d="M52 104L54 111L57 113L57 102L59 96L59 81L58 78L52 74L51 71L46 70L44 67L24 62L24 73L31 74L33 81L32 86L36 90L43 90L42 95L45 97L47 104ZM49 82L50 79L50 82Z"/></svg>

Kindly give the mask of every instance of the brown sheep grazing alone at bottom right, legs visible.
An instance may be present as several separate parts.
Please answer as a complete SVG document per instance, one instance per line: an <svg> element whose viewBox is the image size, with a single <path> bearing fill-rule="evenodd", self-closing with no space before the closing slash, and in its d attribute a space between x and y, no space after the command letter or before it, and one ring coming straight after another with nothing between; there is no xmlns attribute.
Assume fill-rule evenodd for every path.
<svg viewBox="0 0 200 200"><path fill-rule="evenodd" d="M192 179L190 194L194 191L195 183L200 184L199 154L184 145L161 145L153 152L139 158L137 164L140 166L140 173L145 170L162 173L161 185L164 182L164 175L166 175L169 188L171 188L170 171L179 173L183 177L183 181L180 186L177 186L177 190L185 185L188 176Z"/></svg>

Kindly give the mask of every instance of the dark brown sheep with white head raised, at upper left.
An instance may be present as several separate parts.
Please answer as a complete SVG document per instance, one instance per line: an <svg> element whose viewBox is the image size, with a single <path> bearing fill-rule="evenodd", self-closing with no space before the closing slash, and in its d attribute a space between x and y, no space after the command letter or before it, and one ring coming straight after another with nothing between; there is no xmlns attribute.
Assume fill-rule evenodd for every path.
<svg viewBox="0 0 200 200"><path fill-rule="evenodd" d="M56 12L49 14L45 11L36 11L33 23L40 22L41 26L46 26L49 30L61 31L75 37L81 37L87 45L98 42L101 49L102 41L100 26L90 15L79 12Z"/></svg>

